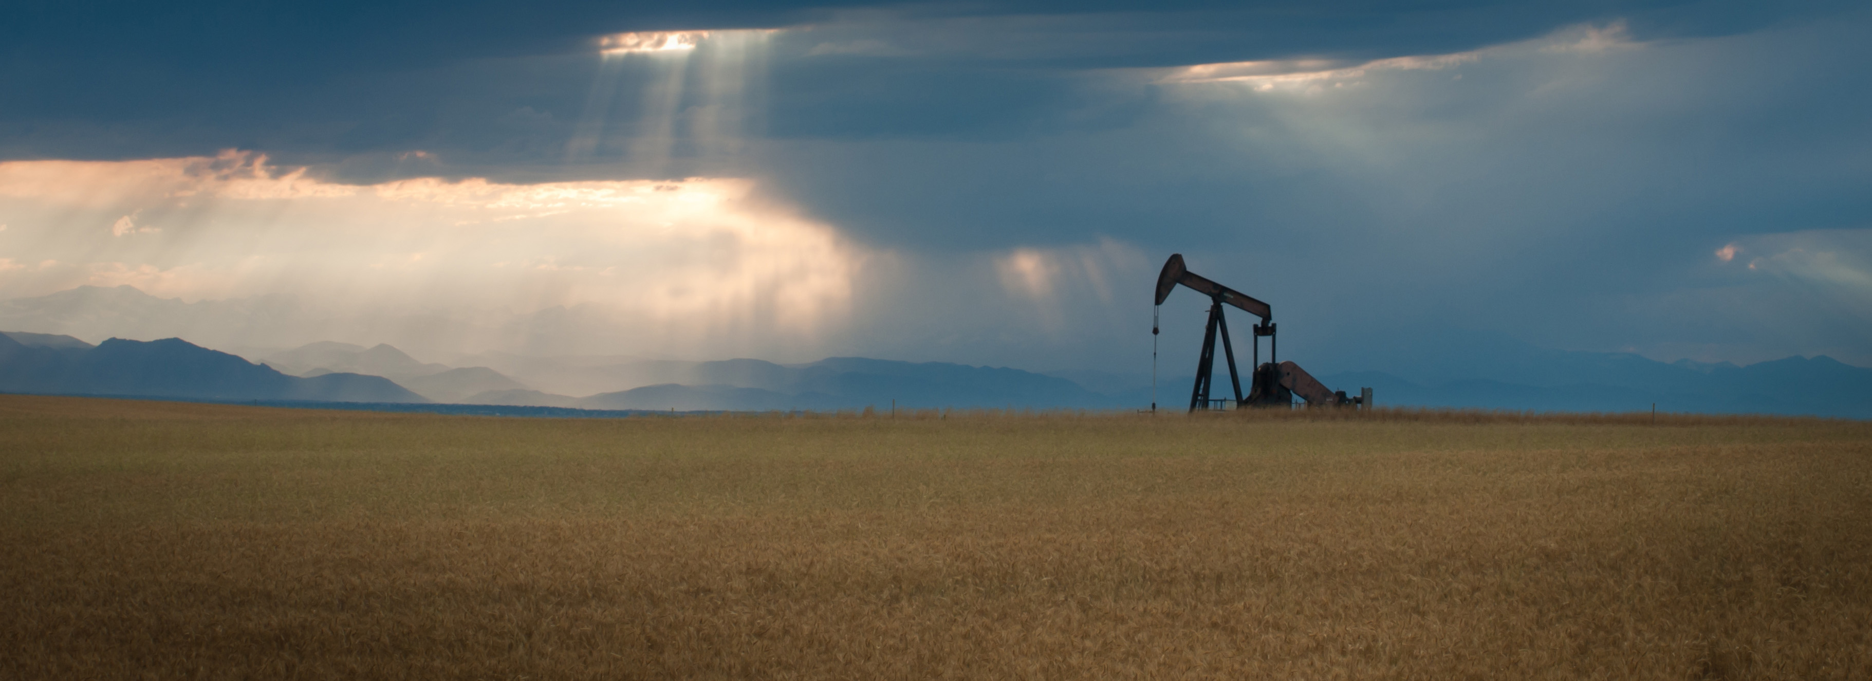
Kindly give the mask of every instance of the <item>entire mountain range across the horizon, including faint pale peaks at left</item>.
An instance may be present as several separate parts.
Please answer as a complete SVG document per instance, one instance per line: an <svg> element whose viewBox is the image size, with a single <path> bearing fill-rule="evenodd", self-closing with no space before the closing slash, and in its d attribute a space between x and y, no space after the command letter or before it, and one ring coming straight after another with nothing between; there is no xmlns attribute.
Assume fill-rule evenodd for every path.
<svg viewBox="0 0 1872 681"><path fill-rule="evenodd" d="M249 307L253 307L249 311ZM311 342L208 350L180 339L90 342L62 329L103 333L137 324L178 329L212 316L219 326L275 320L249 301L182 303L129 286L0 301L0 391L277 398L337 402L447 402L584 410L848 410L848 408L1161 408L1187 402L1191 376L827 357L670 361L633 355L481 352L421 361L391 344ZM251 314L249 314L251 312ZM1812 413L1872 417L1872 369L1818 357L1664 363L1636 354L1565 352L1470 333L1451 342L1389 339L1353 354L1359 367L1312 367L1335 389L1370 385L1380 406L1533 412ZM1307 357L1297 357L1307 363ZM1121 367L1112 367L1121 369ZM1219 385L1226 385L1219 378ZM1221 391L1217 391L1221 395Z"/></svg>

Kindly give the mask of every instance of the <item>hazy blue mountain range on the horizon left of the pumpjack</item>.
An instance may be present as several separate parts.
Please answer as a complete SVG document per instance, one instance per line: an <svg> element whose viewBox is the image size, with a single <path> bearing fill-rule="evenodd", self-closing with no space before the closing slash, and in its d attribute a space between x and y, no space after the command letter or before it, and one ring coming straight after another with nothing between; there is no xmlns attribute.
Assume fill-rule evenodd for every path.
<svg viewBox="0 0 1872 681"><path fill-rule="evenodd" d="M550 365L547 357L535 363ZM577 359L573 361L577 363ZM371 372L371 374L367 374ZM298 376L294 376L298 374ZM650 361L620 376L683 378L588 397L552 395L489 367L421 363L378 344L314 342L260 363L182 339L97 346L69 335L0 331L0 391L384 404L502 404L580 410L844 410L899 408L1112 408L1104 395L1016 369L833 357L811 365L758 359Z"/></svg>

